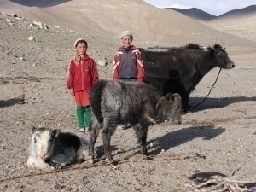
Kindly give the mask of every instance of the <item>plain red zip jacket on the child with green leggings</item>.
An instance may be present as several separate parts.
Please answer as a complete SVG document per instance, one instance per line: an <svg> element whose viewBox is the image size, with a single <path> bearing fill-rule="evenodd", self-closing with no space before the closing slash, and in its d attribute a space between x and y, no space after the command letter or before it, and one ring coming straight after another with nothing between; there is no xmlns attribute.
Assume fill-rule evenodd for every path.
<svg viewBox="0 0 256 192"><path fill-rule="evenodd" d="M67 88L74 91L90 90L99 80L95 61L86 55L80 61L72 59L67 69Z"/></svg>

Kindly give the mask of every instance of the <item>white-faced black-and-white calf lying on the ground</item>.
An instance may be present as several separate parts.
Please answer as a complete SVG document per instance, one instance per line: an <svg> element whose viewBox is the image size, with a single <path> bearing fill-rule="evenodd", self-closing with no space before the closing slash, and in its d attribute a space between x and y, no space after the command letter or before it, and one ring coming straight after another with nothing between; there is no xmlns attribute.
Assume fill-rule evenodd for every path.
<svg viewBox="0 0 256 192"><path fill-rule="evenodd" d="M32 128L32 139L26 165L29 168L55 168L85 160L88 141L72 132L50 128Z"/></svg>

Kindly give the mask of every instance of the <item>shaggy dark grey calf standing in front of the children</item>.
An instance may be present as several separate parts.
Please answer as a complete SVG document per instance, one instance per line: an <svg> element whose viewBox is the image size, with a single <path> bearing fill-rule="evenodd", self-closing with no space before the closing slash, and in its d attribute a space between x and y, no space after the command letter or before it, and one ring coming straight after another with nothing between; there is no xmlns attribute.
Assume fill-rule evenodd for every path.
<svg viewBox="0 0 256 192"><path fill-rule="evenodd" d="M158 90L144 83L100 80L90 91L90 106L91 163L94 162L94 145L101 129L106 160L112 160L110 138L117 125L130 124L141 144L141 153L147 155L149 125L164 120L170 120L174 124L180 124L182 121L181 97L172 93L161 97Z"/></svg>

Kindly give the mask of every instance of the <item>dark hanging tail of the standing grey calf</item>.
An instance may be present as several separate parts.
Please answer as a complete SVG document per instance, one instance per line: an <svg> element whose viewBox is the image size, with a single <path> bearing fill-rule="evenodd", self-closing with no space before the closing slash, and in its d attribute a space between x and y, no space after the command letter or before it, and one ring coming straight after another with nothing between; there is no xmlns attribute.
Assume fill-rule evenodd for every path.
<svg viewBox="0 0 256 192"><path fill-rule="evenodd" d="M102 116L102 92L106 87L107 81L100 80L96 84L93 85L92 89L90 90L90 107L92 113L96 116L96 119L102 124L103 123L103 116Z"/></svg>

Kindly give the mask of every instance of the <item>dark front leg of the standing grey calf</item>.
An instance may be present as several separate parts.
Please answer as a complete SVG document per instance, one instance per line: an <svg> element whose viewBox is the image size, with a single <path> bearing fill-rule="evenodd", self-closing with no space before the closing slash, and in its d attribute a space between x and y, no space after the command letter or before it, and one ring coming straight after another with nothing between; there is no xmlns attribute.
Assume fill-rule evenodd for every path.
<svg viewBox="0 0 256 192"><path fill-rule="evenodd" d="M141 144L141 154L148 155L147 149L147 134L148 134L148 119L141 120L140 123L134 126L134 130L136 131L138 141Z"/></svg>

